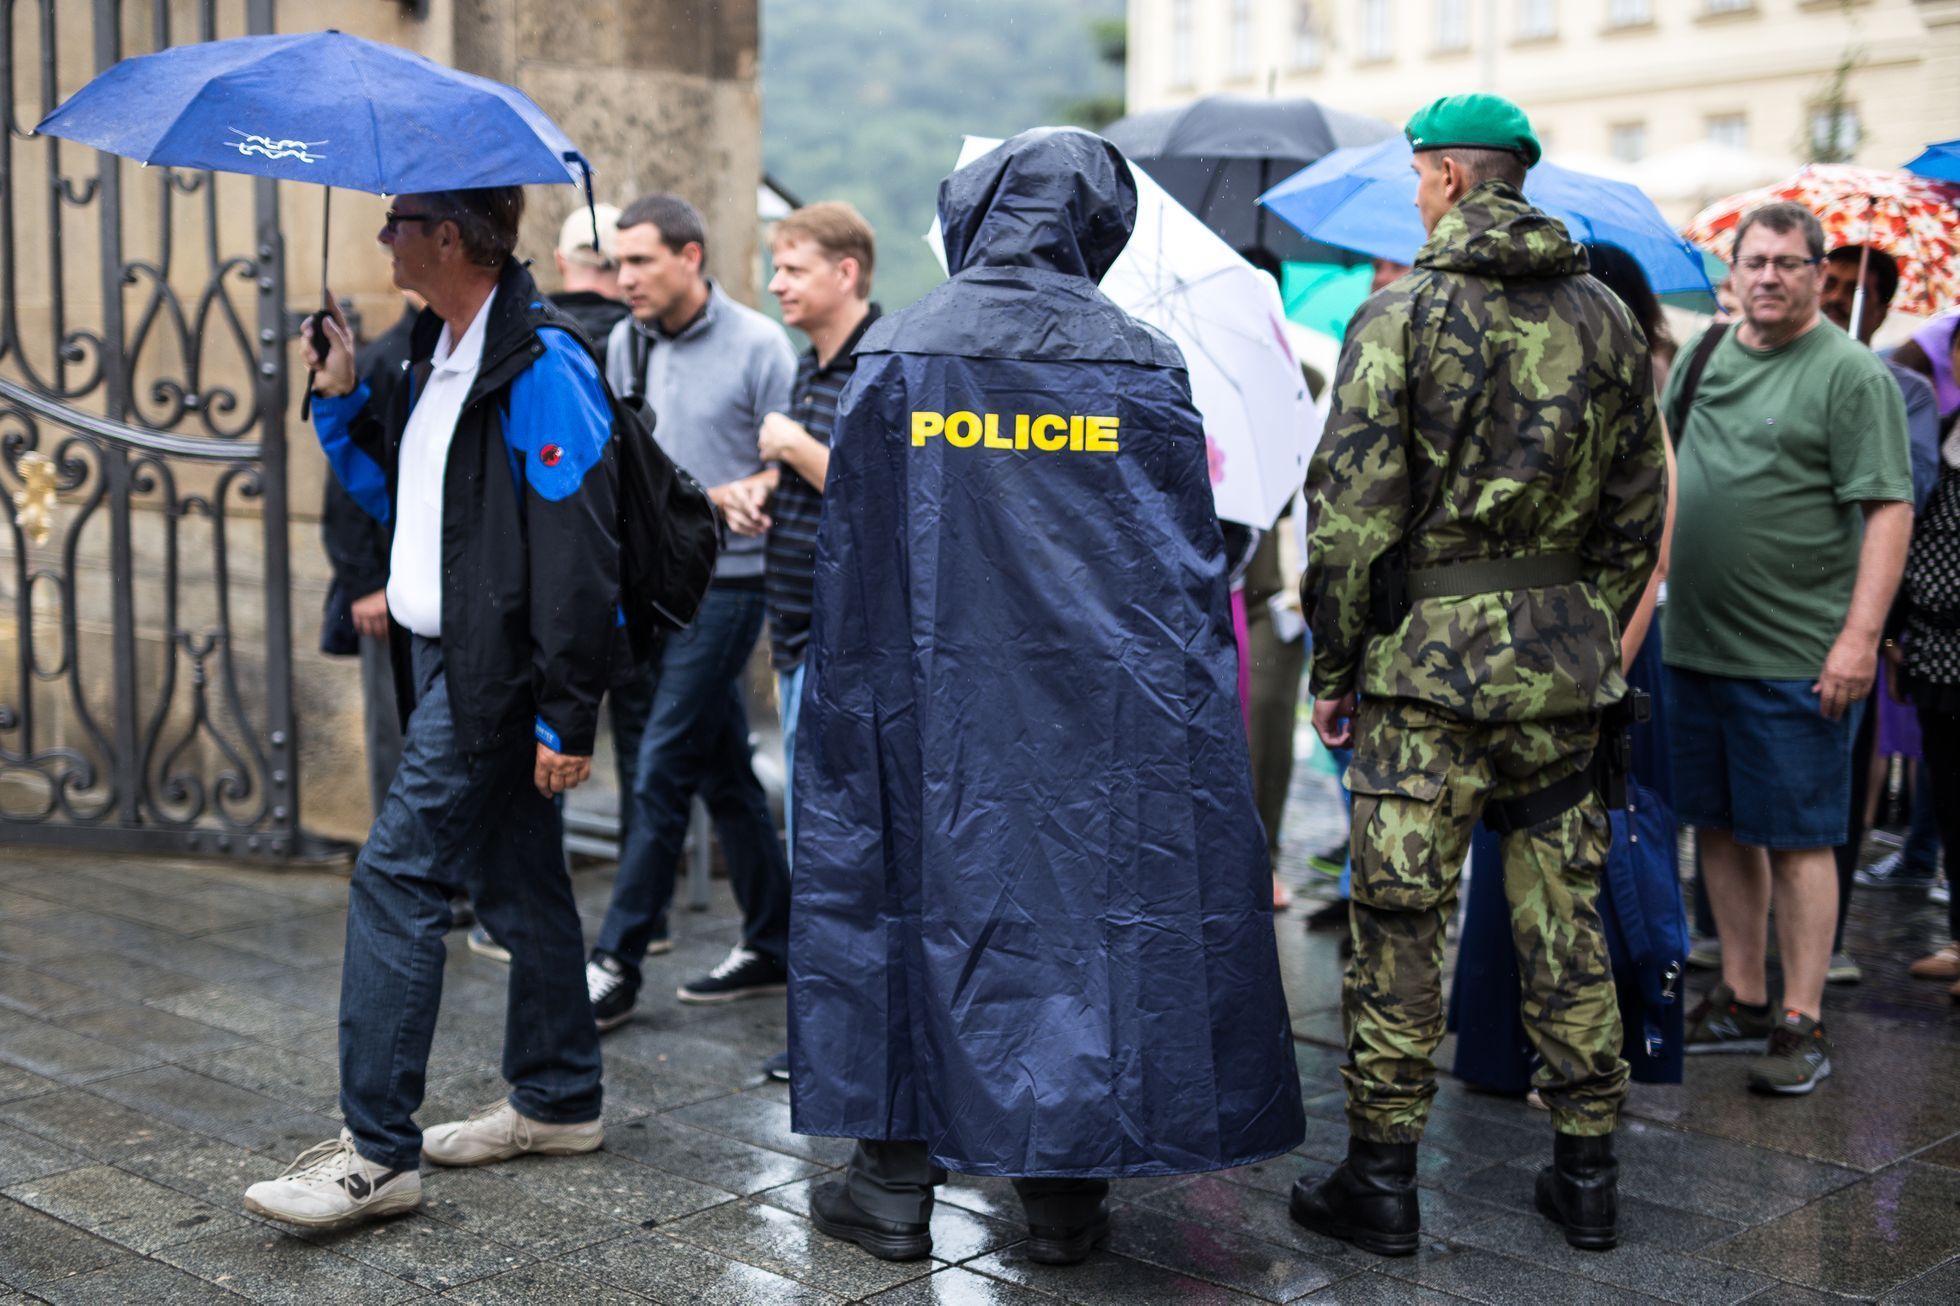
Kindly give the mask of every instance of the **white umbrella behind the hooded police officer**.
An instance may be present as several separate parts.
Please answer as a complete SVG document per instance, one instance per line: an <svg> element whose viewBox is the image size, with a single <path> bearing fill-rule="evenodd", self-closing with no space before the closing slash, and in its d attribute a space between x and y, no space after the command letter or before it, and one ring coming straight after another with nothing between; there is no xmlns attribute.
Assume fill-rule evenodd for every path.
<svg viewBox="0 0 1960 1306"><path fill-rule="evenodd" d="M966 137L956 167L996 145ZM1184 351L1192 402L1205 420L1217 514L1266 529L1307 478L1307 457L1321 435L1280 288L1149 173L1131 169L1131 176L1137 229L1102 290ZM937 222L925 239L945 267Z"/></svg>

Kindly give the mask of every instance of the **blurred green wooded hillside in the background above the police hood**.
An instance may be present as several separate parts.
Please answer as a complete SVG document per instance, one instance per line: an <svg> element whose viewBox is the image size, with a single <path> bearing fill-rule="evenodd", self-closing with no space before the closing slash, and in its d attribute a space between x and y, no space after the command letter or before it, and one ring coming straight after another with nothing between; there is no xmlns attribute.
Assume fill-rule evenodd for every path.
<svg viewBox="0 0 1960 1306"><path fill-rule="evenodd" d="M960 135L1121 112L1123 0L762 0L762 161L878 231L876 298L941 280L921 239ZM1115 43L1115 57L1111 57ZM1102 118L1102 122L1098 122Z"/></svg>

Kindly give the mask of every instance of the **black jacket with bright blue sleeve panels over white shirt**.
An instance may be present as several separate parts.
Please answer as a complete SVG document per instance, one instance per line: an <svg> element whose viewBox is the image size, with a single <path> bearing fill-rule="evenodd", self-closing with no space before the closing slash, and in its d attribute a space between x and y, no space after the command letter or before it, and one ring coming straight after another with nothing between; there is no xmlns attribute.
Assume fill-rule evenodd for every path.
<svg viewBox="0 0 1960 1306"><path fill-rule="evenodd" d="M408 384L314 400L335 477L390 533L402 431L441 331L423 310ZM535 735L592 753L600 696L627 663L617 484L612 406L590 349L508 261L443 478L443 671L466 751ZM396 628L390 647L406 724L408 631Z"/></svg>

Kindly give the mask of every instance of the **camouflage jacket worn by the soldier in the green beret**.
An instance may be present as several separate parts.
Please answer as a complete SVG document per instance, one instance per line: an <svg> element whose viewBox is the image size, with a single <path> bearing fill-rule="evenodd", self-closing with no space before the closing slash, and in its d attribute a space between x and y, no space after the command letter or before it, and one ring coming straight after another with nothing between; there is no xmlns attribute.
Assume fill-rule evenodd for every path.
<svg viewBox="0 0 1960 1306"><path fill-rule="evenodd" d="M1658 555L1666 463L1646 339L1564 227L1503 182L1466 194L1362 304L1307 473L1313 696L1470 720L1625 692L1619 629ZM1576 584L1419 600L1368 626L1368 569L1574 553Z"/></svg>

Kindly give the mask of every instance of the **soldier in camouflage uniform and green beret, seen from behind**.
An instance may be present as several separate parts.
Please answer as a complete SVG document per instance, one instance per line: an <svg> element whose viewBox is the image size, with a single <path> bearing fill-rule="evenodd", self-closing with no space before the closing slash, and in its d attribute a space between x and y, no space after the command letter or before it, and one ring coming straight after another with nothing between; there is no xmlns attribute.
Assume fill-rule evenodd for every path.
<svg viewBox="0 0 1960 1306"><path fill-rule="evenodd" d="M1446 96L1407 135L1429 243L1348 327L1307 477L1313 726L1354 747L1354 959L1348 1157L1296 1184L1292 1214L1415 1251L1443 924L1482 818L1503 833L1558 1128L1537 1204L1574 1247L1605 1249L1627 1065L1593 910L1609 841L1595 749L1662 529L1652 371L1586 251L1519 192L1539 161L1523 110Z"/></svg>

